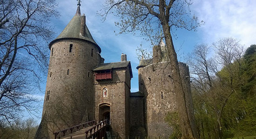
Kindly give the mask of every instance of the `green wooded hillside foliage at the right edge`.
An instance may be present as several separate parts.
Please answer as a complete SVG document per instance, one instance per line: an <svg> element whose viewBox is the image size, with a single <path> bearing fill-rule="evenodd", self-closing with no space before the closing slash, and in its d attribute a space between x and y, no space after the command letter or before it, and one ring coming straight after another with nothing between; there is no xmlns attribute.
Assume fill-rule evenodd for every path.
<svg viewBox="0 0 256 139"><path fill-rule="evenodd" d="M202 77L199 78L201 80L192 82L200 139L220 137L218 118L223 139L256 135L256 45L251 45L244 55L234 57L233 61L211 75L212 87L199 74L197 76ZM197 67L203 69L202 66Z"/></svg>

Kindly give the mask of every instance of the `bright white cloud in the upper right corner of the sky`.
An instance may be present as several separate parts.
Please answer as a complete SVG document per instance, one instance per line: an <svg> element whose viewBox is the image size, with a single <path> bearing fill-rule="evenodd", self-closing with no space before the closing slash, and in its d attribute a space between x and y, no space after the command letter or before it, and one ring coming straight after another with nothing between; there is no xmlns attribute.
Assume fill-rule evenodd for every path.
<svg viewBox="0 0 256 139"><path fill-rule="evenodd" d="M249 47L256 44L256 0L195 0L192 11L205 21L199 28L207 43L233 37Z"/></svg>

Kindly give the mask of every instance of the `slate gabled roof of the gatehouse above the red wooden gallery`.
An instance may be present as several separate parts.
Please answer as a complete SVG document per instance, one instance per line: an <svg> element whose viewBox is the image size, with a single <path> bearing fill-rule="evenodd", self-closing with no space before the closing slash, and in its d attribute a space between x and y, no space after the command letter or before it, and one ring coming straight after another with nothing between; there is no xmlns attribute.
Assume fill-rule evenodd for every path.
<svg viewBox="0 0 256 139"><path fill-rule="evenodd" d="M119 68L127 68L129 67L131 78L133 77L132 73L132 67L130 61L121 61L121 62L115 62L115 63L101 63L99 66L93 71L99 71L99 70L107 70L107 69L119 69Z"/></svg>

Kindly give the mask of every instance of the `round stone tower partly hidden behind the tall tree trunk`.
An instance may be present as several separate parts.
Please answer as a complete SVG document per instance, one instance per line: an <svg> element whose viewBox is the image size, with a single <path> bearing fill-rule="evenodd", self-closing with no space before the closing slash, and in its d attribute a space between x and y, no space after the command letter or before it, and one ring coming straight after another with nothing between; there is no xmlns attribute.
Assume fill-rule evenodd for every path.
<svg viewBox="0 0 256 139"><path fill-rule="evenodd" d="M182 86L186 92L186 104L193 117L192 96L190 90L189 68L179 63ZM139 90L144 97L145 129L150 137L168 138L172 133L171 126L165 121L168 112L176 112L174 82L166 47L161 40L160 45L153 47L152 59L141 59L137 67L139 74ZM195 126L195 123L191 123Z"/></svg>

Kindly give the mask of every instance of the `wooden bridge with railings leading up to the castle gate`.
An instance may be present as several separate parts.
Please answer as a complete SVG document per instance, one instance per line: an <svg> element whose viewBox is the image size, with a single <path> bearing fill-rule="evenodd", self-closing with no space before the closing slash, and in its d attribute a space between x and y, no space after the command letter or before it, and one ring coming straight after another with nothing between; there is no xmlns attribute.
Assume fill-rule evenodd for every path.
<svg viewBox="0 0 256 139"><path fill-rule="evenodd" d="M96 121L76 125L54 133L55 139L101 139L105 136L109 120Z"/></svg>

